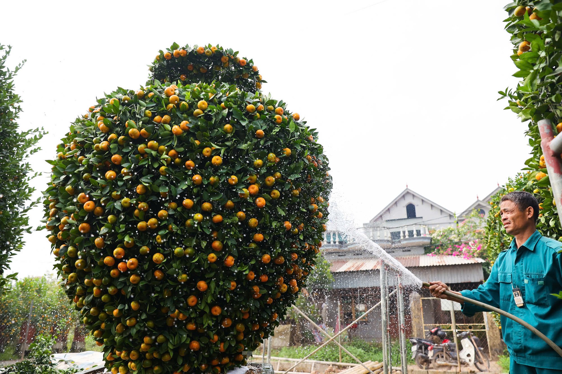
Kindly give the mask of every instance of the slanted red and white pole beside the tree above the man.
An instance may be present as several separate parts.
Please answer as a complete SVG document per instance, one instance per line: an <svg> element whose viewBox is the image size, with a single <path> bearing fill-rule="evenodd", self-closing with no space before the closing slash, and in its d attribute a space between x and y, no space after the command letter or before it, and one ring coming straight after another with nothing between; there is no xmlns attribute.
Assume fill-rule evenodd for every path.
<svg viewBox="0 0 562 374"><path fill-rule="evenodd" d="M550 120L538 121L538 131L541 134L542 154L545 156L546 170L552 188L552 195L562 218L562 135L554 137Z"/></svg>

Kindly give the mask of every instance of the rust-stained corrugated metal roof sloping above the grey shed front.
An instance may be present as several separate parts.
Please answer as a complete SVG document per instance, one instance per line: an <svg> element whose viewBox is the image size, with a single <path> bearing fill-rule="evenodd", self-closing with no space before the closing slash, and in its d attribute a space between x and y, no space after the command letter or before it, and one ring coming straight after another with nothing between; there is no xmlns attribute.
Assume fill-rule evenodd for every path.
<svg viewBox="0 0 562 374"><path fill-rule="evenodd" d="M450 266L486 262L479 257L463 258L459 256L428 256L427 254L419 254L417 256L399 256L395 258L403 266L408 268L445 265ZM332 261L330 271L338 273L343 271L378 270L379 268L380 259L378 258L352 258Z"/></svg>

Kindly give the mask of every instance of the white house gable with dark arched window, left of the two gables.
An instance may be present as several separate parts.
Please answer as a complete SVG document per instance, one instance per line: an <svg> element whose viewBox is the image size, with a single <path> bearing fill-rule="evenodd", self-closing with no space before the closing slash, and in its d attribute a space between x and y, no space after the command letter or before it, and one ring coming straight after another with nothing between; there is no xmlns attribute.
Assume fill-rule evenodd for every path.
<svg viewBox="0 0 562 374"><path fill-rule="evenodd" d="M431 220L451 219L454 213L424 198L415 191L406 188L370 221L370 225L377 225L383 221L402 220L407 218L406 206L414 204L416 217L423 217L423 221L431 224Z"/></svg>

